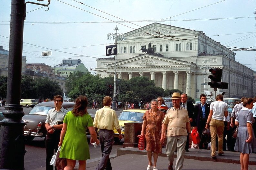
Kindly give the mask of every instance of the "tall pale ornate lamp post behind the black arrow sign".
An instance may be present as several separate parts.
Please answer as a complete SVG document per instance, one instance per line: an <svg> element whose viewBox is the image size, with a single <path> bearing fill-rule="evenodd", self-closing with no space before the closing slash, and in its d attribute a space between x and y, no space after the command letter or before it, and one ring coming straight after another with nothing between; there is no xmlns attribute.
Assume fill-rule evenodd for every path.
<svg viewBox="0 0 256 170"><path fill-rule="evenodd" d="M113 40L115 40L115 44L117 44L118 40L124 40L125 39L125 34L120 34L117 33L118 31L118 27L116 26L116 28L114 29L114 31L116 31L115 33L108 33L108 40L112 39L113 36ZM116 84L116 79L117 79L117 54L115 55L115 65L114 65L114 91L113 91L113 101L112 101L112 109L113 110L117 110L117 99L116 99L116 89L117 89L117 84Z"/></svg>

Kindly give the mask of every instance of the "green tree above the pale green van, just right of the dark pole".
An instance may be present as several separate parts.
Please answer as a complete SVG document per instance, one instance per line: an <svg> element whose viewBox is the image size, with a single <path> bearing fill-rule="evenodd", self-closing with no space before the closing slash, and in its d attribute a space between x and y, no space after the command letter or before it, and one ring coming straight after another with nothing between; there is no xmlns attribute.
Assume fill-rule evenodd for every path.
<svg viewBox="0 0 256 170"><path fill-rule="evenodd" d="M37 99L36 82L29 76L21 78L21 99Z"/></svg>

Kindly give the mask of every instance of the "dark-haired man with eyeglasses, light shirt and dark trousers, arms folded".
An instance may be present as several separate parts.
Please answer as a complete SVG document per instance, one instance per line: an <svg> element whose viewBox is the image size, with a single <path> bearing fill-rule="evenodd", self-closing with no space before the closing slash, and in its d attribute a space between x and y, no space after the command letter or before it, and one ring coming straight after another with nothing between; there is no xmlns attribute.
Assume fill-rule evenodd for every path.
<svg viewBox="0 0 256 170"><path fill-rule="evenodd" d="M58 149L60 132L63 126L63 120L67 114L67 110L62 107L63 97L60 95L53 97L54 109L50 109L47 113L45 127L46 134L46 170L53 170L53 166L50 165L52 156ZM56 169L56 167L55 167Z"/></svg>

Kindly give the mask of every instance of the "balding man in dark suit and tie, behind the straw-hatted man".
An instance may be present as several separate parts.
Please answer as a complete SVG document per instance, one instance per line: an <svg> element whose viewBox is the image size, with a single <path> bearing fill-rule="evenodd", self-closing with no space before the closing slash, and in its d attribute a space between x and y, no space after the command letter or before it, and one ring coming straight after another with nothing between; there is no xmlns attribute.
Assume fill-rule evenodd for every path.
<svg viewBox="0 0 256 170"><path fill-rule="evenodd" d="M182 93L180 98L181 98L180 106L183 108L186 108L188 110L190 125L196 126L196 123L194 120L194 105L193 105L193 103L187 102L188 95L186 93ZM189 136L188 136L187 143L185 146L185 151L189 152Z"/></svg>

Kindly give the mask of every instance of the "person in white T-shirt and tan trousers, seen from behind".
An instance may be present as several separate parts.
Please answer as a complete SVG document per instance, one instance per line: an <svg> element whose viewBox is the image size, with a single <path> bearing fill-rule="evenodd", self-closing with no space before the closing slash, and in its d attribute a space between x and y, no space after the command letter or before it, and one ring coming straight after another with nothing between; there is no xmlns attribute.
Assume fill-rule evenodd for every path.
<svg viewBox="0 0 256 170"><path fill-rule="evenodd" d="M224 116L228 116L228 104L223 102L223 96L218 94L216 100L210 104L210 113L206 121L205 128L210 125L211 132L211 157L216 158L216 134L218 136L218 155L223 155L223 131Z"/></svg>

